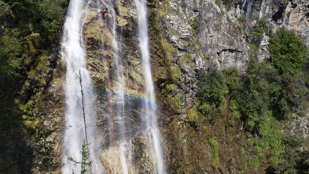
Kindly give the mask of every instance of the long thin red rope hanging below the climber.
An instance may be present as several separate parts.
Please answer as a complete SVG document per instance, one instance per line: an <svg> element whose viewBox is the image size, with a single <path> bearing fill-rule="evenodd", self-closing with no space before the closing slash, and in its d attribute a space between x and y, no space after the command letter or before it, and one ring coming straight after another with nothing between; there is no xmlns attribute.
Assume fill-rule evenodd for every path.
<svg viewBox="0 0 309 174"><path fill-rule="evenodd" d="M104 8L103 0L102 8ZM115 141L114 141L114 127L113 127L113 111L112 111L112 94L111 94L111 78L110 78L110 69L109 69L109 54L108 54L108 36L107 36L107 24L106 24L106 14L105 17L105 32L106 32L106 52L107 52L107 65L108 65L108 85L109 85L109 103L111 107L111 120L112 120L112 135L113 135L113 156L114 156L114 167L117 174L117 167L116 167L116 158L115 158Z"/></svg>

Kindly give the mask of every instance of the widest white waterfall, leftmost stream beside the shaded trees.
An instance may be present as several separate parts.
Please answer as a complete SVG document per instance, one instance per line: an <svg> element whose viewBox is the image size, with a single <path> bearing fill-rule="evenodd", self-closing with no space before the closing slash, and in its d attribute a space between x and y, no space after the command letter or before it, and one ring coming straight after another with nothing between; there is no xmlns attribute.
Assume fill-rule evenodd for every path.
<svg viewBox="0 0 309 174"><path fill-rule="evenodd" d="M95 133L95 109L91 78L86 69L86 52L82 39L85 9L84 0L70 1L66 20L63 27L61 40L61 56L67 62L65 103L66 126L63 137L63 163L62 173L80 173L81 165L67 160L73 157L76 161L82 161L80 151L83 140L91 143L89 147L90 160L93 161L91 171L99 174L103 172L100 163L100 147L96 141ZM86 135L86 127L87 135Z"/></svg>

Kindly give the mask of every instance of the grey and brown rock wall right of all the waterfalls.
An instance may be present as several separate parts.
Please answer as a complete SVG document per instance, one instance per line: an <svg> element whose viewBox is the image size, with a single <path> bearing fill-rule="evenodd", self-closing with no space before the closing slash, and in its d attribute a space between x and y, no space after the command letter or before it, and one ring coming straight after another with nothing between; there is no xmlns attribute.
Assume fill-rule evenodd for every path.
<svg viewBox="0 0 309 174"><path fill-rule="evenodd" d="M234 1L229 9L221 1L184 0L169 1L169 4L166 7L168 9L167 14L160 17L163 28L161 34L163 39L177 46L178 51L173 54L173 64L179 67L181 72L181 78L176 82L178 89L171 95L184 94L184 97L180 98L180 111L176 115L165 115L165 120L172 121L162 127L171 173L237 173L237 171L243 169L242 162L239 160L243 154L240 148L241 140L247 139L245 134L240 131L243 123L241 120L236 120L235 127L228 129L229 115L226 113L226 115L215 118L213 125L204 127L202 130L195 130L188 124L188 111L194 104L196 72L199 69L196 68L195 71L192 71L193 66L180 63L181 54L191 54L196 67L201 65L202 68L217 66L218 69L236 67L243 72L246 69L246 62L249 57L248 51L250 49L246 41L250 34L249 30L261 18L266 18L266 21L274 26L274 30L286 26L295 31L303 37L308 46L308 2ZM196 16L199 42L197 45L200 44L201 50L183 49L190 46L190 44L183 46L182 43L185 42L182 41L185 40L184 33L187 32L186 29L188 28L188 35L193 36ZM245 17L247 21L241 23L239 20L241 17ZM174 33L169 33L169 28ZM264 35L257 42L260 60L269 57L266 50L268 39L269 37ZM190 41L190 37L188 40ZM205 63L203 60L205 60ZM184 68L185 66L188 68ZM191 79L191 81L187 81L188 79ZM171 105L165 106L167 111L171 110ZM308 115L302 119L308 120ZM299 120L299 118L296 120ZM301 125L302 122L299 121L298 124ZM295 128L295 126L291 127ZM307 132L306 127L300 127L298 127L299 130L304 129ZM302 134L299 134L299 136L306 137L303 137ZM211 165L210 160L211 149L208 140L212 137L219 144L220 160L216 167ZM246 172L263 173L265 171L263 171L263 167L259 167L257 170L248 169Z"/></svg>

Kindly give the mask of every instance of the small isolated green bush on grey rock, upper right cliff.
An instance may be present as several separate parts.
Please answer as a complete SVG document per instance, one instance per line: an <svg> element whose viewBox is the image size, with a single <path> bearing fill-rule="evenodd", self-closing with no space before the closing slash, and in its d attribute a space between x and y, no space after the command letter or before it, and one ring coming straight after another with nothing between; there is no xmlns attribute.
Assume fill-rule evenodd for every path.
<svg viewBox="0 0 309 174"><path fill-rule="evenodd" d="M248 42L255 44L260 35L268 32L268 30L269 26L267 25L265 18L261 18L256 22L256 25L254 26L253 31L248 38Z"/></svg>

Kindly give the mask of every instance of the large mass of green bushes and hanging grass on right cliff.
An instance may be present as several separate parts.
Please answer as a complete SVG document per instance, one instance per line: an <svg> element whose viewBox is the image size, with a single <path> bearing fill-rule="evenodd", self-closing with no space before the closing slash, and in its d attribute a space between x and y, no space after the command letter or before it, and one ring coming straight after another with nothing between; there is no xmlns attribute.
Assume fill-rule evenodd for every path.
<svg viewBox="0 0 309 174"><path fill-rule="evenodd" d="M268 29L263 20L258 22L256 28L256 33L265 32ZM278 44L281 45L271 44L277 47L276 56L285 54L292 56L292 52L294 52L294 57L291 60L301 56L299 59L302 61L291 61L298 63L294 68L290 66L294 69L293 71L282 71L284 68L276 66L273 58L271 58L271 62L258 62L257 48L255 45L251 45L248 68L244 74L240 75L235 68L229 68L223 72L210 71L198 76L198 102L196 102L196 107L188 112L189 121L199 123L191 124L192 126L201 126L205 124L202 116L209 117L211 115L214 117L220 114L230 116L226 116L228 126L233 126L236 119L244 120L248 139L241 143L243 147L246 147L246 150L242 154L242 158L245 160L240 172L246 173L248 171L246 166L257 168L260 165L264 166L265 162L272 166L281 165L284 145L297 147L302 144L296 137L281 137L281 126L279 125L280 120L288 119L295 108L303 105L308 91L308 72L302 71L300 68L306 67L303 56L306 49L303 47L303 41L301 39L299 41L299 38L291 33L293 32L279 31L277 36L273 37L282 40L278 41ZM295 42L291 43L292 41ZM294 49L294 43L300 45L300 49ZM299 50L301 53L298 54ZM226 108L229 110L227 111ZM202 113L201 116L199 116L201 114L199 112ZM306 166L304 162L301 165Z"/></svg>

